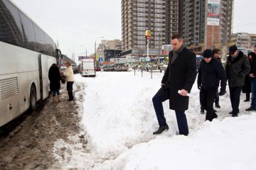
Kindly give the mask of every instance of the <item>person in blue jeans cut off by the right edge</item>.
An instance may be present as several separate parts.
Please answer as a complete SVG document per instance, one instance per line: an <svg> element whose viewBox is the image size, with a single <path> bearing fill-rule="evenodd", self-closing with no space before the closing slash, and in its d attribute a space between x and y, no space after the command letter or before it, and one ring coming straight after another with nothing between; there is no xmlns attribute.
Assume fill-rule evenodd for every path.
<svg viewBox="0 0 256 170"><path fill-rule="evenodd" d="M250 62L250 74L249 77L251 79L251 87L252 87L252 103L250 108L245 109L245 111L256 111L256 55L254 52L250 52L248 54L248 58L251 58Z"/></svg>

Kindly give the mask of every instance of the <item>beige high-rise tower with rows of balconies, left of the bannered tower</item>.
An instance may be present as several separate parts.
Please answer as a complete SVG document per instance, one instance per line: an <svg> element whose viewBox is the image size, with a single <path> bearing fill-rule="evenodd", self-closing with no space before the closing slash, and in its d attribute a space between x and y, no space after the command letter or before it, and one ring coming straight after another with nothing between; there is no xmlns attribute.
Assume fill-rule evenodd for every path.
<svg viewBox="0 0 256 170"><path fill-rule="evenodd" d="M178 33L178 0L122 0L123 55L146 55L146 30L151 30L149 55L158 56L161 45Z"/></svg>

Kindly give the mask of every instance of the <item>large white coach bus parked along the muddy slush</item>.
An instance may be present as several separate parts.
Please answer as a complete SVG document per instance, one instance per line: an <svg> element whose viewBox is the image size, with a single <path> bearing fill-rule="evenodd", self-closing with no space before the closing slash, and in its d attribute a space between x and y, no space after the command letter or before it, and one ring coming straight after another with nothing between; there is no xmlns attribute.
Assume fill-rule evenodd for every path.
<svg viewBox="0 0 256 170"><path fill-rule="evenodd" d="M49 95L55 42L9 0L0 0L0 126Z"/></svg>

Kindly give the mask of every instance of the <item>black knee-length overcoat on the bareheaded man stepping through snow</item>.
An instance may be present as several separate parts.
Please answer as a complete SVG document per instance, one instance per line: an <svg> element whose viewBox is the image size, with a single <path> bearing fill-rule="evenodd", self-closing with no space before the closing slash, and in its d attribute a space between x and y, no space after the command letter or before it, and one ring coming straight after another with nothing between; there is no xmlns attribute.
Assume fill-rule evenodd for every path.
<svg viewBox="0 0 256 170"><path fill-rule="evenodd" d="M186 47L178 53L171 64L173 52L169 52L169 64L161 81L169 89L169 107L175 111L188 110L188 96L181 96L178 90L190 92L196 80L196 55Z"/></svg>

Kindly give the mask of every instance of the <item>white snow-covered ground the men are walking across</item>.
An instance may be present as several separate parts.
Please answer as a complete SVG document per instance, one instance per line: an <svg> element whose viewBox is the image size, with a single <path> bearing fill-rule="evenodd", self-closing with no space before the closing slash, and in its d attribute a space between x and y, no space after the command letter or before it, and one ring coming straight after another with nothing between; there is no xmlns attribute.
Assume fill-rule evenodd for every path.
<svg viewBox="0 0 256 170"><path fill-rule="evenodd" d="M164 111L169 130L152 135L159 127L151 98L160 88L163 73L97 72L97 77L75 75L85 84L79 135L55 142L55 151L69 152L58 159L61 169L256 169L256 113L245 112L245 94L240 96L240 114L232 118L229 91L220 96L218 119L205 122L200 113L199 91L193 86L186 111L189 135L178 131L174 111L166 101ZM76 96L78 97L78 96ZM81 104L81 103L80 103Z"/></svg>

